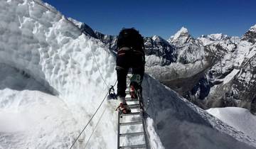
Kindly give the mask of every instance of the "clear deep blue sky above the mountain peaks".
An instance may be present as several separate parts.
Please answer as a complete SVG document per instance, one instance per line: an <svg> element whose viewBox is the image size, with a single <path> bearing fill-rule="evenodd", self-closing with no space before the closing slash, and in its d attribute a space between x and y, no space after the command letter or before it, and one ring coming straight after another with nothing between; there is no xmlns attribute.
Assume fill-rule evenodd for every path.
<svg viewBox="0 0 256 149"><path fill-rule="evenodd" d="M92 29L117 35L137 28L144 36L169 38L182 26L194 37L241 36L256 23L255 0L43 0Z"/></svg>

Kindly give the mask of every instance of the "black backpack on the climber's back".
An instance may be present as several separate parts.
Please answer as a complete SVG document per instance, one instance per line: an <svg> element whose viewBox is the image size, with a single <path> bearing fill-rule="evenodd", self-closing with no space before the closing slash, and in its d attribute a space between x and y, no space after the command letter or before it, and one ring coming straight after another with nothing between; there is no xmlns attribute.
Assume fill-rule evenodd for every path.
<svg viewBox="0 0 256 149"><path fill-rule="evenodd" d="M134 28L123 28L117 38L117 50L120 48L144 51L144 40L139 31Z"/></svg>

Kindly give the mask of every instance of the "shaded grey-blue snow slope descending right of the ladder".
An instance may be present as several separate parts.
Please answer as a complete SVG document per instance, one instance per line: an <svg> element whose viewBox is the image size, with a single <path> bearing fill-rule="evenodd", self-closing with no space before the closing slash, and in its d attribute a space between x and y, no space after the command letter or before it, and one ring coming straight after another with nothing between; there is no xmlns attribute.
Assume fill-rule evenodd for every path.
<svg viewBox="0 0 256 149"><path fill-rule="evenodd" d="M155 79L146 76L144 88L148 121L154 121L155 131L165 148L256 147L255 139L235 131Z"/></svg>

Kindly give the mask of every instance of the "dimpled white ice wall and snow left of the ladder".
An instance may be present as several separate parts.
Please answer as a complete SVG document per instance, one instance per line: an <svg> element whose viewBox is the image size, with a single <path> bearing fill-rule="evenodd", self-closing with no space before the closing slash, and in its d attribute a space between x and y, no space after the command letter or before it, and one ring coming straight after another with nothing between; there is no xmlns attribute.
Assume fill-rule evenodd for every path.
<svg viewBox="0 0 256 149"><path fill-rule="evenodd" d="M0 63L9 67L5 70L16 70L25 76L18 77L17 82L26 82L29 77L41 84L26 87L26 83L10 79L13 75L2 81L4 91L1 93L5 96L0 97L1 116L7 114L13 127L9 128L6 122L1 126L0 148L70 147L107 94L109 85L114 84L114 57L100 40L83 34L73 22L42 1L3 0L0 16ZM36 92L41 91L38 86L46 88L48 94ZM105 107L106 104L102 109ZM115 122L115 115L112 108L108 108L108 112L108 118L113 121L102 121L102 125L109 125L107 128L112 133L99 128L98 131L110 137L101 135L97 140L106 148L114 148L114 143L107 142L116 138L116 128L110 125ZM18 123L29 123L29 127L4 131L4 128L14 128L16 117L20 117ZM1 124L4 119L0 118ZM97 118L93 123L96 121ZM94 127L89 126L87 132ZM82 136L86 140L90 137ZM89 146L100 148L94 143ZM80 148L79 145L76 148Z"/></svg>

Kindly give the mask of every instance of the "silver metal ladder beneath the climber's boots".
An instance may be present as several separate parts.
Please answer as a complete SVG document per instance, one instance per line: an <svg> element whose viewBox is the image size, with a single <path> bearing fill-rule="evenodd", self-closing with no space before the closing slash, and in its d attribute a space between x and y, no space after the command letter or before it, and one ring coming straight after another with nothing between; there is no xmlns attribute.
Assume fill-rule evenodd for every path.
<svg viewBox="0 0 256 149"><path fill-rule="evenodd" d="M128 80L129 82L129 80ZM129 87L129 85L128 85ZM126 91L126 94L129 94L129 90ZM127 101L127 104L129 108L131 109L132 113L131 114L122 114L121 111L118 111L118 128L117 128L117 149L121 148L149 148L147 146L147 140L146 140L146 130L145 130L145 121L144 121L144 111L142 110L142 104L139 101L139 99L132 99L131 97L127 96L125 98ZM131 104L130 104L131 103ZM125 118L130 118L135 119L135 121L125 121ZM139 120L138 120L139 119ZM140 131L132 131L132 132L127 132L130 130L129 128L133 127L138 127L141 128ZM125 127L127 129L125 130ZM121 131L126 131L126 132L121 132ZM127 144L124 145L122 143L122 139L130 139L134 137L141 137L142 138L142 143L137 143L137 144ZM134 139L132 139L134 140Z"/></svg>

